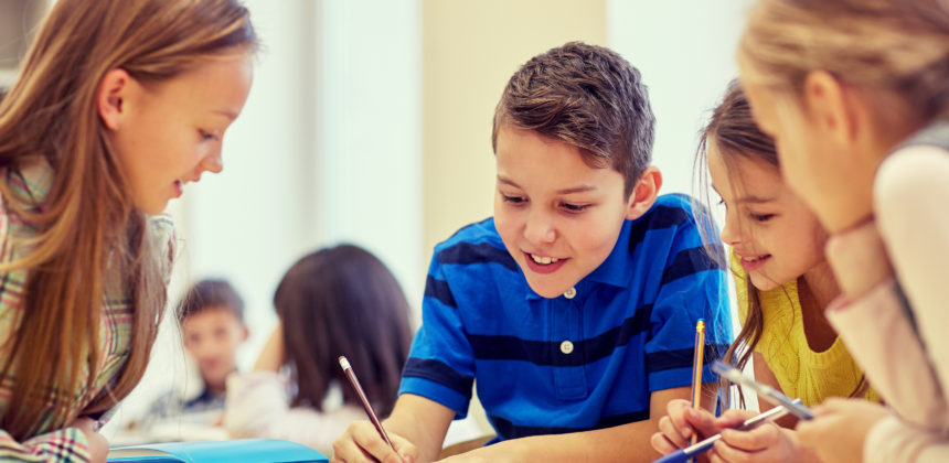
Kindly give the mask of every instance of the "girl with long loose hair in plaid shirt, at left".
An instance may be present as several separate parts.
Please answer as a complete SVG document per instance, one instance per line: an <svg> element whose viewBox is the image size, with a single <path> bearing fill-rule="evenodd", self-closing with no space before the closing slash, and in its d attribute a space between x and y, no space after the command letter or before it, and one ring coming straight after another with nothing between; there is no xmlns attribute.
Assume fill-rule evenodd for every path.
<svg viewBox="0 0 949 463"><path fill-rule="evenodd" d="M0 459L104 461L256 36L236 0L60 0L0 101Z"/></svg>

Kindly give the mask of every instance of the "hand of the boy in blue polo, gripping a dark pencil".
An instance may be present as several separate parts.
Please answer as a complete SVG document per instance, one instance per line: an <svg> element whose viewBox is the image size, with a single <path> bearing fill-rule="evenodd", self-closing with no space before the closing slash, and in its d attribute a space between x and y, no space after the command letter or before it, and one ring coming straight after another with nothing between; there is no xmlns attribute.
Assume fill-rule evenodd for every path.
<svg viewBox="0 0 949 463"><path fill-rule="evenodd" d="M333 442L333 456L330 462L415 463L418 449L398 434L388 430L386 433L398 453L392 451L372 422L354 421L346 432Z"/></svg>

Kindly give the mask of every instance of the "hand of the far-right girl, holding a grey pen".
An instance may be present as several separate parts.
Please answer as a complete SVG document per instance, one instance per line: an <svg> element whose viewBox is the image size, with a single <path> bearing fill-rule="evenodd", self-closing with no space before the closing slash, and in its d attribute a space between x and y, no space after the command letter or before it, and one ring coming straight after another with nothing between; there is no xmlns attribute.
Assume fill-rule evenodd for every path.
<svg viewBox="0 0 949 463"><path fill-rule="evenodd" d="M828 399L814 407L817 417L798 423L802 446L813 449L825 462L862 462L866 434L889 411L860 399Z"/></svg>

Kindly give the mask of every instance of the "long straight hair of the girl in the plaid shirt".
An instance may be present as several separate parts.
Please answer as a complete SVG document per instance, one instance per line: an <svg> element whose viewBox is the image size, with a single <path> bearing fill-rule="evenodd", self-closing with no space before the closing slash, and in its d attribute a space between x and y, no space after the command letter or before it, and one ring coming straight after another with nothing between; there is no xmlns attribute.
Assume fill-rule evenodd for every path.
<svg viewBox="0 0 949 463"><path fill-rule="evenodd" d="M8 214L36 229L15 241L25 256L0 265L0 272L26 270L19 329L0 360L0 380L12 383L0 427L14 438L61 428L128 395L164 308L160 266L169 256L158 255L97 116L103 76L122 68L142 83L160 82L221 54L249 53L256 43L237 0L58 0L44 21L0 100L0 169L9 175L40 155L54 172L42 204L0 181ZM134 314L128 359L105 394L74 410L77 390L90 390L98 372L102 305L114 282Z"/></svg>

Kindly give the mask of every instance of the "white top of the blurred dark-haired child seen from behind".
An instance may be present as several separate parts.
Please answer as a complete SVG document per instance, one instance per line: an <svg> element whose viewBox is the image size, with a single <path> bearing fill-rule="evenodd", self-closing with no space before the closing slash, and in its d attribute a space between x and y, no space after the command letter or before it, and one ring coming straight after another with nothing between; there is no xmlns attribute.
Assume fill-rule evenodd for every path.
<svg viewBox="0 0 949 463"><path fill-rule="evenodd" d="M323 411L290 407L287 378L273 372L232 374L227 378L224 427L234 438L282 439L332 454L333 441L353 421L365 419L361 407L343 405L331 388Z"/></svg>

